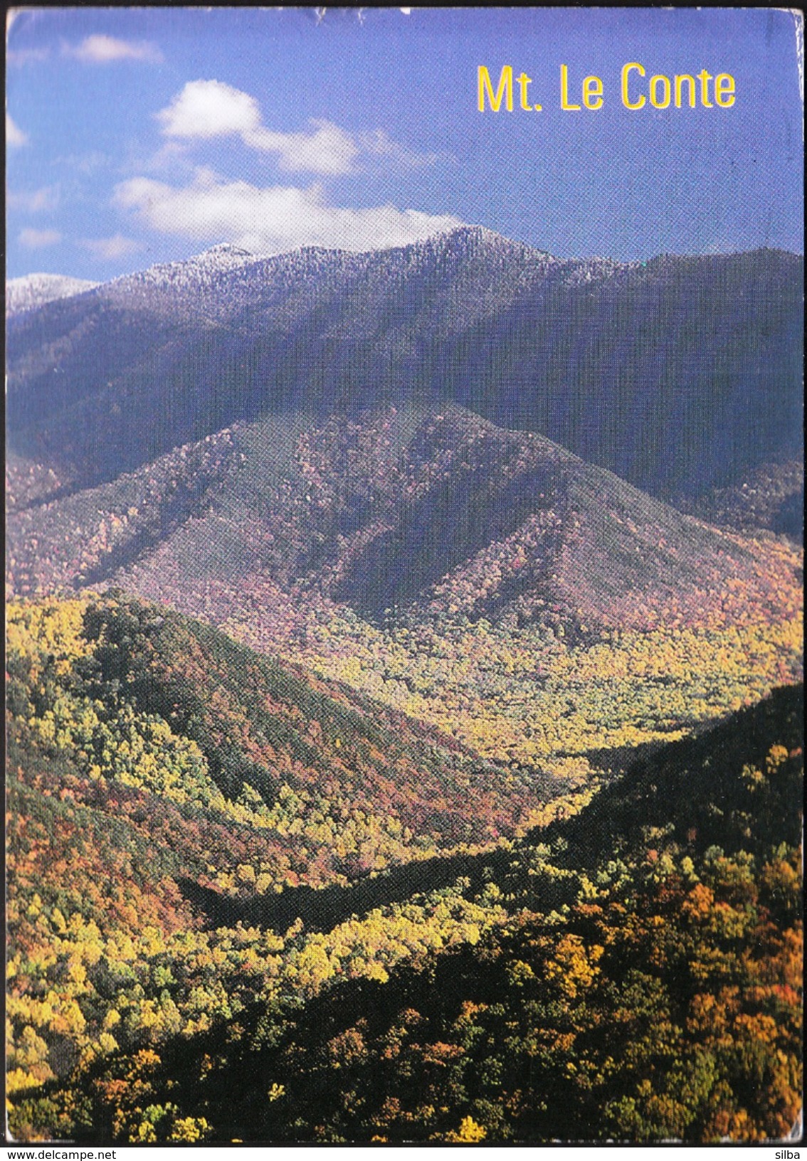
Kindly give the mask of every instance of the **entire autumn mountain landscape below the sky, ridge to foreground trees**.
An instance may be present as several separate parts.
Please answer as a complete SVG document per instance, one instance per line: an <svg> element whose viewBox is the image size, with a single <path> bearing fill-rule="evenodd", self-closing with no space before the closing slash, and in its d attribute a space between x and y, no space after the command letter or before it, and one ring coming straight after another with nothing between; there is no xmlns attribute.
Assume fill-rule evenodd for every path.
<svg viewBox="0 0 807 1161"><path fill-rule="evenodd" d="M801 266L17 280L17 1140L790 1131Z"/></svg>

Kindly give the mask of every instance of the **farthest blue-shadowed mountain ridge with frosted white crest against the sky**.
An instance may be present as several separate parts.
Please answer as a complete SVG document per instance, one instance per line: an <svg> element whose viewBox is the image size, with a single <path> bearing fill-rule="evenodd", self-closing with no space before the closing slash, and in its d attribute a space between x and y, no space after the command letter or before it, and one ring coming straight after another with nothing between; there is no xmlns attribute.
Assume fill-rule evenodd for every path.
<svg viewBox="0 0 807 1161"><path fill-rule="evenodd" d="M219 248L13 318L9 447L100 483L266 413L453 401L697 497L800 455L801 280L778 251L560 261L481 228Z"/></svg>

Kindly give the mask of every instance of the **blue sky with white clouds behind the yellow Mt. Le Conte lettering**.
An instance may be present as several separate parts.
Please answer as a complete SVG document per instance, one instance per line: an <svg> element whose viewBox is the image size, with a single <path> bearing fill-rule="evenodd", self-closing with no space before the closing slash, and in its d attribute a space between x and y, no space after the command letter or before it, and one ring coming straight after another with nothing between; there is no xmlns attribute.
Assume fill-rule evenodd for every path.
<svg viewBox="0 0 807 1161"><path fill-rule="evenodd" d="M460 222L559 257L801 251L795 33L771 9L21 12L7 273L102 280L224 240L365 250ZM705 68L735 103L626 109L628 62L636 94ZM561 109L562 64L570 101L601 78L600 109ZM480 113L478 65L526 72L542 110L517 87L512 113Z"/></svg>

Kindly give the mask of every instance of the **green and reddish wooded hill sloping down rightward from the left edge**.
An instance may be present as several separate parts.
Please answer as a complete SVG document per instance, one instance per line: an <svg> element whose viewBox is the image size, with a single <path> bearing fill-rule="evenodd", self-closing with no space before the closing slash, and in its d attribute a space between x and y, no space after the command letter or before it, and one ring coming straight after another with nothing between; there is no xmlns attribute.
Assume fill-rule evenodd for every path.
<svg viewBox="0 0 807 1161"><path fill-rule="evenodd" d="M41 749L58 720L56 749L84 777L251 829L279 882L345 881L513 835L564 789L120 593L12 606L8 672L12 722L38 722Z"/></svg>

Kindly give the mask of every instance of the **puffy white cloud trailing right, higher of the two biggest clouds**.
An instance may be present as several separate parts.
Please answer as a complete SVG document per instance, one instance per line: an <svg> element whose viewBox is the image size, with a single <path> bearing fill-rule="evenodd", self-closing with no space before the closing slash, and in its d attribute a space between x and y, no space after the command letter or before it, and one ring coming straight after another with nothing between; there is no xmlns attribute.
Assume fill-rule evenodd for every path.
<svg viewBox="0 0 807 1161"><path fill-rule="evenodd" d="M337 175L354 173L362 154L399 165L432 165L435 154L397 145L383 130L351 134L331 121L309 122L308 132L278 132L262 123L254 96L218 80L192 80L157 114L166 137L209 140L237 136L251 149L276 153L281 171Z"/></svg>

